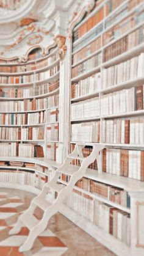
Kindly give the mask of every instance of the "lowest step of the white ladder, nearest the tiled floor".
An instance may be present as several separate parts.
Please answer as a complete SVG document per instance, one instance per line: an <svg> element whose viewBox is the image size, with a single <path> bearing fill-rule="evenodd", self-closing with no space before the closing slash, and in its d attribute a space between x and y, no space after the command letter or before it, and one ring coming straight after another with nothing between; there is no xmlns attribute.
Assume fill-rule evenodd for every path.
<svg viewBox="0 0 144 256"><path fill-rule="evenodd" d="M35 218L34 215L28 213L22 214L21 219L24 222L24 225L26 225L26 227L28 227L29 230L32 230L32 228L35 227L40 222L40 220Z"/></svg>

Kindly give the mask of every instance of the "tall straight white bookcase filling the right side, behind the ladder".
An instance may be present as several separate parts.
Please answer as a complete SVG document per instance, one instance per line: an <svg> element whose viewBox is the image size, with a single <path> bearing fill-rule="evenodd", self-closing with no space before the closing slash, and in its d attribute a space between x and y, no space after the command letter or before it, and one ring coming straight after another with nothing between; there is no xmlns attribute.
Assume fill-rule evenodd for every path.
<svg viewBox="0 0 144 256"><path fill-rule="evenodd" d="M90 187L87 183L84 183L82 188L81 183L79 183L79 185L74 186L73 195L71 195L68 203L65 202L67 207L63 207L61 212L65 216L70 216L69 218L79 225L79 227L85 229L90 235L109 247L115 254L121 256L143 255L144 253L142 248L138 249L134 246L135 236L137 235L135 235L132 226L134 224L136 230L137 224L134 221L136 213L134 213L133 203L136 199L134 199L132 192L139 194L139 186L144 186L144 130L143 125L139 126L139 120L142 123L144 122L144 69L143 71L140 70L140 67L144 68L144 59L142 57L144 51L143 4L143 0L102 1L92 12L86 13L86 15L84 14L84 18L81 21L77 18L78 24L75 21L75 25L71 26L73 27L73 31L71 31L73 37L72 42L70 42L72 45L70 151L73 151L74 145L77 143L87 144L88 147L84 148L84 152L87 155L88 150L93 145L103 144L105 149L101 154L101 171L98 172L96 166L93 165L90 170L88 169L85 177L89 180L101 181L105 185L113 186L113 188L126 189L126 184L128 184L131 208L121 207L115 202L109 202L109 200L88 191L87 188ZM94 21L92 23L95 17L99 17L100 10L103 15L100 15L97 23L94 23ZM96 62L94 58L98 54L99 62ZM142 62L140 59L142 59ZM126 71L127 69L129 71ZM139 71L137 72L137 70ZM120 79L118 75L121 76ZM132 93L132 90L134 93ZM121 93L121 97L118 96L119 93ZM128 97L124 97L124 93L131 97L133 107ZM124 103L128 103L128 108L124 109ZM132 108L129 109L130 104ZM112 126L112 123L116 125L118 122L120 123L120 129L114 125ZM122 128L122 123L126 122L138 122L138 124L136 125L134 123L134 126L130 125L126 131L124 130L126 128ZM117 135L115 135L116 130L114 129L117 129ZM121 142L117 141L118 131L121 134ZM105 134L106 140L104 139ZM115 136L115 142L112 139L113 134ZM142 141L140 142L139 139L142 139ZM123 153L128 154L129 161L127 163L129 167L126 166L126 159ZM81 162L77 160L73 164L79 166ZM121 173L119 172L118 164L120 164ZM122 174L122 169L124 170L124 174ZM68 179L68 177L62 177L60 182L65 184L65 179ZM137 200L140 200L140 194ZM86 209L84 207L82 209L81 207L77 207L77 203L81 207L82 203L87 204L87 207L85 206ZM106 230L106 227L102 223L96 224L93 221L96 214L95 204L97 203L103 207L107 207L108 204L109 208L113 207L115 209L112 211L115 211L116 215L121 211L123 216L131 219L131 221L129 220L129 232L131 229L131 241L129 240L129 243L126 242L126 238L124 238L124 241L122 236L115 235L115 229L119 229L117 225L115 226L116 222L114 224L110 222L113 225L112 230L110 230L110 226L109 230ZM92 207L88 208L90 205ZM104 211L99 211L103 216ZM112 211L108 210L109 214L112 214ZM72 212L73 214L71 214ZM89 215L93 215L91 219L88 218L88 213ZM84 221L87 222L86 228L83 227ZM105 223L106 220L103 219L103 222ZM98 230L94 234L89 227ZM117 232L119 231L117 230ZM123 233L123 231L121 232ZM100 233L101 238L98 238ZM104 237L107 237L106 240ZM114 247L110 247L112 241L115 243ZM123 247L123 250L121 247Z"/></svg>

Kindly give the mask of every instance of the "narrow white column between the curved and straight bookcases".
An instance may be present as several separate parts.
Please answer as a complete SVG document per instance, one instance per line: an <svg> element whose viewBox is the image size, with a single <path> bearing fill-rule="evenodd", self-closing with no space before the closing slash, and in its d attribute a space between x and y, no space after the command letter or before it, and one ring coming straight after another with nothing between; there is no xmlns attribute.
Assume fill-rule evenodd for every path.
<svg viewBox="0 0 144 256"><path fill-rule="evenodd" d="M60 92L59 92L59 148L57 148L57 159L63 163L68 155L70 138L70 82L71 82L71 40L67 38L65 45L67 53L60 62Z"/></svg>

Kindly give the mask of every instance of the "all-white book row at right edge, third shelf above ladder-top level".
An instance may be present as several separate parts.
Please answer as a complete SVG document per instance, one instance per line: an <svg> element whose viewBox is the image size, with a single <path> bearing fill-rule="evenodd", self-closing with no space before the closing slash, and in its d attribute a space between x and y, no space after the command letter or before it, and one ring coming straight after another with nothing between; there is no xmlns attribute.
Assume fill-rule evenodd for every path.
<svg viewBox="0 0 144 256"><path fill-rule="evenodd" d="M103 69L102 89L143 76L144 53L132 59Z"/></svg>

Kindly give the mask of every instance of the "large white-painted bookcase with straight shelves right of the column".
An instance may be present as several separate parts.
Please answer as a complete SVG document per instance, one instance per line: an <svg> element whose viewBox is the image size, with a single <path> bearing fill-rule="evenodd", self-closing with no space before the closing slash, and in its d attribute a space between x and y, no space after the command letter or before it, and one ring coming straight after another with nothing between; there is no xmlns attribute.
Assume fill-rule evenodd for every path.
<svg viewBox="0 0 144 256"><path fill-rule="evenodd" d="M93 1L93 8L92 8L92 11L89 13L87 13L86 8L85 8L85 12L84 12L84 9L81 12L78 12L75 20L73 20L73 23L70 24L69 33L71 35L71 38L68 40L70 53L72 54L72 63L71 63L72 72L71 72L71 85L70 85L71 87L70 89L71 90L70 141L69 141L70 150L73 150L74 145L76 145L77 143L81 143L84 145L85 144L88 145L87 148L84 148L85 152L88 153L88 150L90 150L90 148L92 148L93 145L96 145L99 143L103 144L105 149L103 150L103 154L101 154L101 162L103 166L101 169L101 172L98 172L95 166L91 166L90 169L87 170L85 178L89 180L87 182L91 182L95 180L97 183L102 183L103 185L106 185L106 186L112 186L113 189L116 189L116 188L126 189L126 191L129 194L129 197L131 197L131 207L124 207L123 205L118 205L117 202L110 202L108 199L101 196L100 192L99 194L96 194L95 192L88 191L87 182L85 181L85 178L84 178L83 182L86 182L86 183L82 183L81 181L77 186L74 186L73 195L71 195L71 199L68 200L69 202L65 202L65 206L63 205L61 212L65 214L67 218L70 218L71 221L79 225L79 227L84 229L90 235L95 237L98 241L100 241L105 246L107 246L115 254L120 256L143 255L144 243L142 239L141 241L139 239L140 237L142 238L142 234L143 234L143 230L140 227L140 224L142 224L142 219L139 219L139 214L144 213L144 207L143 207L144 185L143 185L143 177L140 177L138 173L140 172L140 168L141 168L140 175L143 176L142 169L144 167L144 162L142 161L142 158L135 158L134 153L137 156L138 155L141 156L140 154L143 154L144 141L143 143L139 141L140 142L139 143L137 139L135 139L135 141L132 142L132 140L130 139L130 135L129 135L129 141L127 142L121 141L120 143L119 142L108 143L107 141L103 141L103 134L106 133L107 130L109 129L109 135L107 136L112 136L112 133L113 133L112 129L114 129L112 127L109 128L110 126L105 126L105 128L103 129L103 124L104 124L104 121L106 121L108 125L108 122L111 122L112 120L113 122L116 122L118 120L118 122L121 122L121 123L125 122L125 120L128 120L128 122L130 123L129 134L131 133L131 136L132 136L132 131L133 131L135 133L135 136L140 136L138 135L140 133L141 137L143 137L143 131L144 131L143 127L141 131L139 128L139 125L136 125L135 129L138 129L138 130L137 131L135 129L132 130L131 122L132 120L143 120L144 105L142 106L141 109L137 107L139 102L137 102L136 100L139 100L139 99L135 98L136 97L135 95L137 90L140 88L140 86L143 86L144 65L141 64L141 67L143 69L141 73L138 73L137 76L132 76L132 72L134 73L136 70L136 67L138 68L138 66L135 65L135 68L133 67L133 70L131 71L131 77L127 79L123 78L123 81L120 81L120 82L116 81L115 83L113 83L112 79L114 79L114 73L112 74L113 75L112 76L109 71L109 77L106 78L105 80L104 80L104 74L106 72L107 72L106 74L108 74L107 70L108 69L110 70L110 68L111 69L113 68L112 70L117 71L117 68L119 67L118 65L121 65L121 73L122 73L124 70L123 67L126 67L126 63L134 61L134 58L135 58L135 61L136 59L138 60L139 58L142 58L139 56L143 56L143 50L144 50L144 45L143 45L144 34L142 32L143 26L144 26L144 20L143 20L143 16L140 16L140 15L142 15L143 13L144 2L143 1L107 0L107 1L98 1L98 3L99 4L96 6L95 1ZM103 15L99 14L100 12L103 13ZM82 18L82 15L84 18ZM99 18L99 20L96 17L96 15ZM102 16L99 16L99 15L102 15ZM131 23L132 17L135 20L133 24ZM92 21L92 18L93 18L93 21ZM96 23L96 18L97 18L97 23ZM123 26L123 29L121 28L122 26ZM140 30L142 32L141 37L139 34ZM136 33L135 31L137 31L137 35L135 34ZM132 45L132 38L135 38L135 43L133 43L133 45ZM123 43L123 46L121 46L120 42L122 44L124 40L127 40L126 41L127 45L124 45ZM92 43L95 43L96 45L96 42L98 43L100 42L100 43L99 43L99 47L97 43L97 46L95 49L95 47L92 46ZM92 58L97 56L100 53L101 53L101 57L100 57L101 63L100 64L99 63L97 64L96 62L94 63L95 60L92 60ZM113 56L113 54L115 54L115 56ZM126 63L124 64L124 62ZM132 66L129 66L129 70L131 68ZM100 76L99 84L97 83L97 81L95 81L96 80L96 77L94 77L95 74L98 74ZM111 79L112 81L111 84L110 83L108 84L109 79ZM104 84L104 81L106 82L106 84ZM90 86L93 89L89 90ZM132 109L127 108L124 111L123 109L119 109L119 111L117 111L117 109L113 108L113 106L115 106L113 104L120 104L120 102L124 103L126 98L124 96L121 98L118 98L117 96L117 98L115 98L115 101L111 102L111 100L114 99L115 94L118 95L118 93L120 93L122 90L127 95L128 93L130 95L130 90L128 89L134 90L134 95L131 95L132 96L131 98L134 99L134 108ZM89 93L88 93L88 90L89 90ZM143 93L143 89L142 89L142 93ZM109 97L107 100L109 104L106 103L106 101L105 103L104 101L102 101L104 97L105 98ZM93 107L88 107L89 102L92 100L98 100L98 106L99 106L98 109L94 105L92 105ZM105 106L105 111L102 109L103 106ZM110 109L110 112L106 111L107 108ZM78 115L76 111L79 113ZM98 126L95 126L96 124ZM89 126L91 125L91 127L95 126L97 128L90 128L91 129L90 130L88 128L88 125ZM121 127L122 127L122 124L121 124ZM96 129L99 129L97 143L95 142ZM132 131L130 131L130 129ZM123 140L123 136L124 136L123 134L125 130L123 131L118 130L118 131L121 134L121 139ZM73 136L74 134L75 136ZM88 138L87 134L89 134L89 137L90 137L89 141L88 139L85 139L85 138ZM117 133L117 136L118 136L118 133ZM128 134L126 136L128 136ZM77 140L74 140L73 137L77 137ZM81 141L79 141L80 137L81 137ZM126 137L125 137L125 141L126 141ZM131 172L128 169L128 166L124 167L129 170L129 174L127 175L125 174L122 175L119 172L120 169L122 169L121 164L123 164L123 158L121 156L122 152L129 154L128 164L130 169L133 164ZM133 160L132 160L132 157L133 157ZM77 165L79 166L79 164L81 163L77 161L74 164L76 164L76 166ZM126 164L125 160L124 160L124 164ZM120 167L119 170L118 170L118 166ZM109 167L109 172L108 172L108 167ZM106 169L103 169L103 168L106 168ZM132 174L134 175L133 177L132 177ZM65 184L66 182L65 177L62 178L61 182ZM83 187L81 188L81 186ZM88 186L91 186L91 185L88 185ZM78 207L78 205L81 205L81 207ZM91 205L91 208L90 208L90 205ZM97 207L97 205L100 205L99 208ZM142 208L140 208L139 205L141 205ZM108 208L109 210L105 211L104 208ZM102 222L104 222L104 225L107 225L107 219L109 219L110 221L108 225L109 229L107 230L106 230L106 227L104 227L104 225L102 225L100 222L98 223L94 221L94 219L96 218L95 217L96 214L98 214L98 209L99 209L99 213L101 214L99 218L103 219ZM97 213L96 213L96 210L97 210ZM113 213L114 213L114 216L113 216ZM118 226L117 224L117 221L118 221L118 223L121 223L122 226L124 225L124 227L126 227L126 222L121 221L119 217L117 217L119 216L120 213L122 214L122 219L125 218L123 216L128 217L127 221L129 221L129 218L130 218L129 229L131 229L131 238L129 243L127 243L126 236L124 236L124 232L126 233L126 230L124 231L123 228L121 228L120 225ZM91 220L90 218L88 219L88 214L93 215ZM114 219L114 222L113 221L111 222L111 217ZM137 224L138 222L139 222L139 227ZM113 226L111 227L110 225L113 225ZM115 232L115 230L117 231ZM121 234L123 233L123 238L119 232L121 232Z"/></svg>

